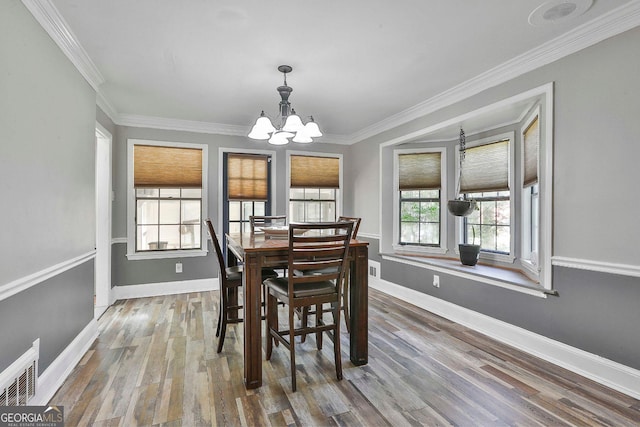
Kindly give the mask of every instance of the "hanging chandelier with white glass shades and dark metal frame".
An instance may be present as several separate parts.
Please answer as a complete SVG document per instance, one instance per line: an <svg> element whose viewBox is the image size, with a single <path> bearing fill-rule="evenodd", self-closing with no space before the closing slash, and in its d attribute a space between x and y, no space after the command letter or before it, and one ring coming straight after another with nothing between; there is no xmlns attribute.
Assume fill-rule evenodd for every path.
<svg viewBox="0 0 640 427"><path fill-rule="evenodd" d="M292 139L293 142L308 143L313 142L312 138L322 136L322 132L320 132L318 124L313 120L313 116L309 116L309 121L306 124L302 123L302 119L289 103L289 95L291 95L293 88L287 86L287 73L290 73L291 70L293 68L289 65L278 67L278 71L284 74L284 85L278 86L278 93L282 99L280 101L280 111L278 117L276 117L276 119L279 119L279 126L273 126L263 110L258 120L256 120L256 124L251 128L251 132L248 135L249 138L267 139L269 144L284 145L289 143L289 139Z"/></svg>

